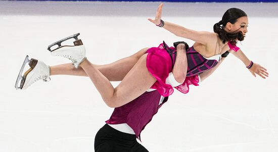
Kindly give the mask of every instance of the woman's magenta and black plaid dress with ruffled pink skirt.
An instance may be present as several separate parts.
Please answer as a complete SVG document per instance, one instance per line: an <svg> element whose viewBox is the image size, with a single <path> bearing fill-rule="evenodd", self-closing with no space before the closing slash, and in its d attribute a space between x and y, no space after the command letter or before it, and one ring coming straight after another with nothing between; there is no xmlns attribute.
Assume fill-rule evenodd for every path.
<svg viewBox="0 0 278 152"><path fill-rule="evenodd" d="M229 42L228 45L230 49L234 50L235 52L237 52L239 49L239 47L237 47L236 45L232 45ZM161 43L158 47L149 48L147 50L148 56L146 65L149 72L157 80L151 88L157 89L157 91L162 96L169 96L173 93L174 89L171 85L168 85L165 82L169 73L172 72L172 65L174 64L175 57L172 57L171 59L171 56L169 55L167 50L170 49L173 50L173 52L176 52L176 50L174 47L169 47L167 45L167 50L164 47L165 46L163 46L163 43ZM181 85L175 87L182 93L189 92L189 85L198 86L198 74L213 68L218 63L218 61L216 60L205 59L194 49L193 46L187 50L187 58L188 69L186 80L184 80Z"/></svg>

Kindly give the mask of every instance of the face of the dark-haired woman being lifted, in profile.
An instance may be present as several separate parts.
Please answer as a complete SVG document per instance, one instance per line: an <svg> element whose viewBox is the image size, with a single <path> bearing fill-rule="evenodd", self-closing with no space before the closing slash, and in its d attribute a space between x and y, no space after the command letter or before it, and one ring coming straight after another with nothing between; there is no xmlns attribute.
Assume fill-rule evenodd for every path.
<svg viewBox="0 0 278 152"><path fill-rule="evenodd" d="M248 17L247 16L243 16L238 18L237 22L234 24L231 23L227 23L225 26L225 30L229 33L238 33L238 32L242 32L242 34L245 36L245 34L248 32L247 30L248 27Z"/></svg>

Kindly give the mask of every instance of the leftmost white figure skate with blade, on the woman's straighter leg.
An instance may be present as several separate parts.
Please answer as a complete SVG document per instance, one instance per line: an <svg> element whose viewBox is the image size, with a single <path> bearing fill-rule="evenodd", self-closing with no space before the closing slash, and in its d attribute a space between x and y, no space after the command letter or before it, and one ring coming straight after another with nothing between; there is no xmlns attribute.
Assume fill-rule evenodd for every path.
<svg viewBox="0 0 278 152"><path fill-rule="evenodd" d="M22 72L27 63L29 64L30 68L22 75ZM50 81L50 67L41 61L37 61L36 59L29 60L28 56L26 56L17 77L15 85L16 89L26 89L31 84L40 79L45 82Z"/></svg>

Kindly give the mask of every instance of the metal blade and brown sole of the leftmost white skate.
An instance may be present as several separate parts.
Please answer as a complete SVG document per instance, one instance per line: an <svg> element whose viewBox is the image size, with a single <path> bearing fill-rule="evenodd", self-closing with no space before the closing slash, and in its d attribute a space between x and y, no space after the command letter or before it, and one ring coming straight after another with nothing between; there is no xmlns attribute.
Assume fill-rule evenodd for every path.
<svg viewBox="0 0 278 152"><path fill-rule="evenodd" d="M18 74L18 77L17 77L17 80L16 80L16 85L15 85L15 88L18 90L18 89L22 89L22 87L24 86L24 83L25 83L25 80L26 80L26 77L27 75L29 74L29 72L31 72L34 67L36 66L37 64L37 60L35 59L31 59L29 60L28 59L29 56L26 56L22 66L21 66L21 69L19 71L19 74ZM26 64L29 64L30 68L24 73L24 75L22 76L22 72L26 66ZM20 84L20 85L19 85Z"/></svg>

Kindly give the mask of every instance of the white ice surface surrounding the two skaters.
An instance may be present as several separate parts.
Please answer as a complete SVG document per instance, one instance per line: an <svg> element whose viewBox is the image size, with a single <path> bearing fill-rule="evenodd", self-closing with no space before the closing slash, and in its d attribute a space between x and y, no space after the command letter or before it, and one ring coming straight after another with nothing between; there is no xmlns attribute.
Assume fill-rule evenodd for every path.
<svg viewBox="0 0 278 152"><path fill-rule="evenodd" d="M80 32L87 58L108 64L162 40L176 37L151 24L159 3L0 2L0 151L94 151L108 108L86 77L53 76L27 90L15 80L26 55L49 65L47 46ZM231 7L249 15L249 32L239 44L247 57L267 68L253 77L229 55L222 66L188 94L175 90L142 132L150 151L278 151L278 4L165 3L163 19L195 30L212 31ZM116 71L115 71L116 72ZM117 82L113 83L115 86Z"/></svg>

